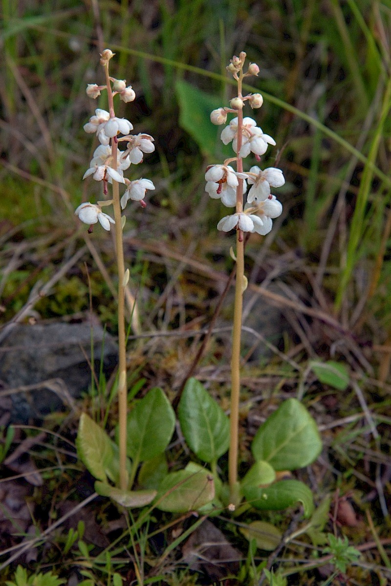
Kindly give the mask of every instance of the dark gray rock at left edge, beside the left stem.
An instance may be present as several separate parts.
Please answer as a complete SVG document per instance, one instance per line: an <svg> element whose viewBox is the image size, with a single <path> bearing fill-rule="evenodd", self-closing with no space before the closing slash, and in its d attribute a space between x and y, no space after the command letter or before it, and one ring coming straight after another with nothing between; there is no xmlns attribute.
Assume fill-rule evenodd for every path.
<svg viewBox="0 0 391 586"><path fill-rule="evenodd" d="M88 389L91 327L94 370L99 373L103 346L103 372L108 377L117 365L118 347L97 323L13 324L0 345L1 394L10 391L12 423L40 419L64 404L72 407L73 398Z"/></svg>

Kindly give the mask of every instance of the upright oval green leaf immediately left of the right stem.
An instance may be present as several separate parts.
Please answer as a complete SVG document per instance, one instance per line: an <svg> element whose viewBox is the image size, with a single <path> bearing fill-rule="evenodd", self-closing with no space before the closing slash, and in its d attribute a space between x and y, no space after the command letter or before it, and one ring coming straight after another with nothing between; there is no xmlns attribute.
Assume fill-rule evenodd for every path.
<svg viewBox="0 0 391 586"><path fill-rule="evenodd" d="M189 379L178 406L189 448L204 462L216 461L229 447L229 419L196 379Z"/></svg>

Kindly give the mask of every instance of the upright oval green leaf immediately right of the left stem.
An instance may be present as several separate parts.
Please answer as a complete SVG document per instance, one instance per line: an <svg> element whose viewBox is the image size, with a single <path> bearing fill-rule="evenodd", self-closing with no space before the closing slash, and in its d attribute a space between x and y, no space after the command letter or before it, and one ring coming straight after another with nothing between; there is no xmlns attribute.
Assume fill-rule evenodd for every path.
<svg viewBox="0 0 391 586"><path fill-rule="evenodd" d="M171 440L175 413L161 389L151 389L128 417L127 453L134 461L162 454Z"/></svg>

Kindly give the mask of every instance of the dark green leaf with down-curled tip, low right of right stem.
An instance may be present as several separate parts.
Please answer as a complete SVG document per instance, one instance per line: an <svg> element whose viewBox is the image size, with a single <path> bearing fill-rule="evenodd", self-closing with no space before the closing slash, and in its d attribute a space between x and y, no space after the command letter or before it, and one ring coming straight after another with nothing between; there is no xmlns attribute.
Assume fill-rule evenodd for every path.
<svg viewBox="0 0 391 586"><path fill-rule="evenodd" d="M298 480L282 480L267 488L248 486L243 493L247 502L256 509L283 510L301 502L305 517L312 515L314 510L311 490Z"/></svg>

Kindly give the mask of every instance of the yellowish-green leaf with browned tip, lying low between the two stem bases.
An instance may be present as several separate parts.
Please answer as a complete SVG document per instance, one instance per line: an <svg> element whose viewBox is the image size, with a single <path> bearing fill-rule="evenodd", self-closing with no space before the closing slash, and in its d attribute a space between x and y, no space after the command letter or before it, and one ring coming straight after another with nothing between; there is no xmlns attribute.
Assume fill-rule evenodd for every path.
<svg viewBox="0 0 391 586"><path fill-rule="evenodd" d="M159 488L158 509L171 513L186 513L200 509L215 496L215 485L210 472L200 469L169 473Z"/></svg>

